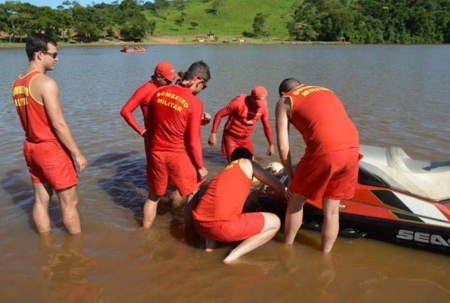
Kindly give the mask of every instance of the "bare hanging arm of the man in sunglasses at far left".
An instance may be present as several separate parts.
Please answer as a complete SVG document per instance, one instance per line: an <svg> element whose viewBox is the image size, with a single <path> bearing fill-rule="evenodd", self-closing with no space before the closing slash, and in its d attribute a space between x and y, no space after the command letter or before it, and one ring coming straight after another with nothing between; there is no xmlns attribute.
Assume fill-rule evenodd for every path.
<svg viewBox="0 0 450 303"><path fill-rule="evenodd" d="M75 162L81 172L87 165L87 161L81 154L77 143L72 136L69 125L65 122L62 114L61 103L59 101L59 89L55 80L46 77L39 79L40 96L46 109L50 123L55 130L56 136L67 147L74 156Z"/></svg>

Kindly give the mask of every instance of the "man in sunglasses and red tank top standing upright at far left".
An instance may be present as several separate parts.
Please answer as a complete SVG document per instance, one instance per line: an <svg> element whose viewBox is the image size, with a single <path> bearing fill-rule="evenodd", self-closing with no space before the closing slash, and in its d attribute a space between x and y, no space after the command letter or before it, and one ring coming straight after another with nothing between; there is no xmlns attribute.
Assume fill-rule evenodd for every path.
<svg viewBox="0 0 450 303"><path fill-rule="evenodd" d="M24 156L34 189L33 219L39 233L50 232L53 189L69 233L81 232L77 210L77 171L87 165L65 122L55 80L46 75L58 61L57 44L47 34L31 33L26 44L29 65L14 81L12 96L25 131Z"/></svg>

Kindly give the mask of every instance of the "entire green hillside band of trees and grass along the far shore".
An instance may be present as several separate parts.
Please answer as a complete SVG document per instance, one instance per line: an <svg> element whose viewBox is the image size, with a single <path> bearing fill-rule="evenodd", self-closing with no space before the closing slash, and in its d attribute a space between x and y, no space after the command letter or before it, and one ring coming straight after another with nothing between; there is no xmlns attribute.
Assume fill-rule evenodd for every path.
<svg viewBox="0 0 450 303"><path fill-rule="evenodd" d="M118 0L86 7L64 1L57 9L0 4L0 32L9 41L31 31L82 41L214 32L353 43L450 42L450 0Z"/></svg>

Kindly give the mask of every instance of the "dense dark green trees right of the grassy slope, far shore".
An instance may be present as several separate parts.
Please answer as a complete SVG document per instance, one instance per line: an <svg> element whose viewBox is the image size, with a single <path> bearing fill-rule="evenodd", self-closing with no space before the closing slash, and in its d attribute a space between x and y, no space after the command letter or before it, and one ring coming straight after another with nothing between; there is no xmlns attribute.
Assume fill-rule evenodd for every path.
<svg viewBox="0 0 450 303"><path fill-rule="evenodd" d="M297 40L450 42L449 0L304 0L293 17Z"/></svg>

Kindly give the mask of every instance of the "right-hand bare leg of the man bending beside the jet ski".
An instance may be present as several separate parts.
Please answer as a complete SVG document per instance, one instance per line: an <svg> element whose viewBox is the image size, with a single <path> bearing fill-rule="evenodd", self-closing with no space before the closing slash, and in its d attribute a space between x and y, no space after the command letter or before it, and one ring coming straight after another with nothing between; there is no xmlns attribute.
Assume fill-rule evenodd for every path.
<svg viewBox="0 0 450 303"><path fill-rule="evenodd" d="M340 200L323 199L322 251L330 252L339 233Z"/></svg>

